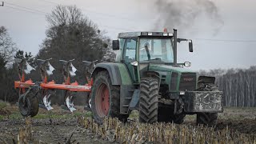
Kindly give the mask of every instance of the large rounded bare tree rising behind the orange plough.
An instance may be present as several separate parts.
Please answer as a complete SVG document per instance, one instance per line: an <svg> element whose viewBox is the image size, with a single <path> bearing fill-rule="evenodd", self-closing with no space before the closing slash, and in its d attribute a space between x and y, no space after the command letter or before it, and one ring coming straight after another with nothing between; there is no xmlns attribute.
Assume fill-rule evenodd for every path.
<svg viewBox="0 0 256 144"><path fill-rule="evenodd" d="M110 39L98 30L94 22L82 15L82 11L76 6L57 6L46 16L46 20L49 28L37 58L53 58L50 62L55 68L52 76L55 82L63 82L62 64L58 62L59 59L74 58L73 64L78 71L71 81L76 80L84 84L86 70L82 61L101 62L111 58L108 57L112 54L110 45L106 45L110 43Z"/></svg>

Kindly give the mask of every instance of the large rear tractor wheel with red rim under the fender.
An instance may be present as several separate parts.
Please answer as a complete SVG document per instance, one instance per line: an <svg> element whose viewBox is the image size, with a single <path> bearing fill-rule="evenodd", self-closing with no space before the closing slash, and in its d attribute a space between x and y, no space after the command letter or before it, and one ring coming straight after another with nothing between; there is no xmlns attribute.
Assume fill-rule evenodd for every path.
<svg viewBox="0 0 256 144"><path fill-rule="evenodd" d="M91 110L95 122L102 124L104 117L116 117L126 122L129 115L120 114L120 86L112 86L107 71L99 72L94 79Z"/></svg>

